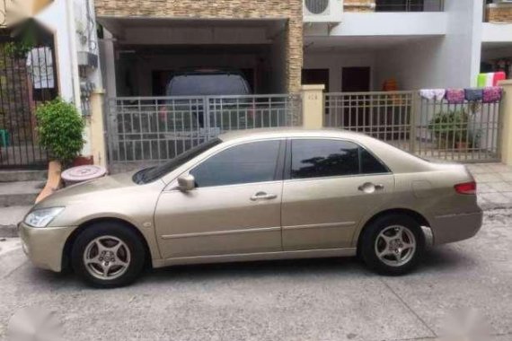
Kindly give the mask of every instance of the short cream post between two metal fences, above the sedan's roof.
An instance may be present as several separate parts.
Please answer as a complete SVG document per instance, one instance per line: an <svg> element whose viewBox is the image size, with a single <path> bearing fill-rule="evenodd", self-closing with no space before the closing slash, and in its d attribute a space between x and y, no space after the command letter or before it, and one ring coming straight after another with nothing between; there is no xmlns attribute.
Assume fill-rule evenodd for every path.
<svg viewBox="0 0 512 341"><path fill-rule="evenodd" d="M302 86L302 121L307 129L323 127L323 89L323 84Z"/></svg>

